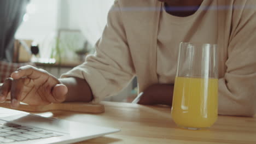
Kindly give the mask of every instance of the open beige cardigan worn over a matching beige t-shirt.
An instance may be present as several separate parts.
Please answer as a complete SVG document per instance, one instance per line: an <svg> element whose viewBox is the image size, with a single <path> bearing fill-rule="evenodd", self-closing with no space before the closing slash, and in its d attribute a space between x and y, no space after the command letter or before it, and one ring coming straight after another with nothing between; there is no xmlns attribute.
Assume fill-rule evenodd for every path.
<svg viewBox="0 0 256 144"><path fill-rule="evenodd" d="M218 9L219 114L252 116L256 113L256 1L212 1L217 1ZM157 0L115 1L95 55L62 77L88 81L94 103L120 92L133 76L139 92L158 83L160 9Z"/></svg>

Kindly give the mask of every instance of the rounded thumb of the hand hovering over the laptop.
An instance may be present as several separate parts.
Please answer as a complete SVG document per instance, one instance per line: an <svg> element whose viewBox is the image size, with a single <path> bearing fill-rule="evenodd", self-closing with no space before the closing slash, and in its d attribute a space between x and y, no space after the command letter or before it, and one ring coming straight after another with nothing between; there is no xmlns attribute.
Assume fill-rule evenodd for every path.
<svg viewBox="0 0 256 144"><path fill-rule="evenodd" d="M67 86L63 84L57 84L53 88L53 92L52 92L53 97L55 99L53 103L62 103L63 101L65 101L67 92L68 92Z"/></svg>

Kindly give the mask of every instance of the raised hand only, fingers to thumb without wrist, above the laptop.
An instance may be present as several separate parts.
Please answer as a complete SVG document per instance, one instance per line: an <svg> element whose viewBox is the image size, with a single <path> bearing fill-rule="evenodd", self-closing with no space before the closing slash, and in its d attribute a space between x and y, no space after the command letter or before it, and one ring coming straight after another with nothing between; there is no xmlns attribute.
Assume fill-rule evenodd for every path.
<svg viewBox="0 0 256 144"><path fill-rule="evenodd" d="M20 67L0 85L0 101L11 99L16 108L20 101L30 105L61 103L68 89L55 76L31 65Z"/></svg>

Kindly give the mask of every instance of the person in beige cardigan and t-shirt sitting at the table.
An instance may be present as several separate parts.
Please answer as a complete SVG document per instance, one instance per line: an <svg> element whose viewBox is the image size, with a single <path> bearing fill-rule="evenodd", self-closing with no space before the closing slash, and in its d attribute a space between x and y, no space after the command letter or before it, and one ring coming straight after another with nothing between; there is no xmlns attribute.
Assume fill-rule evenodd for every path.
<svg viewBox="0 0 256 144"><path fill-rule="evenodd" d="M98 103L137 76L140 104L172 103L178 44L217 43L219 114L256 113L256 2L254 0L115 1L96 53L61 79L21 67L3 83L1 101L31 105Z"/></svg>

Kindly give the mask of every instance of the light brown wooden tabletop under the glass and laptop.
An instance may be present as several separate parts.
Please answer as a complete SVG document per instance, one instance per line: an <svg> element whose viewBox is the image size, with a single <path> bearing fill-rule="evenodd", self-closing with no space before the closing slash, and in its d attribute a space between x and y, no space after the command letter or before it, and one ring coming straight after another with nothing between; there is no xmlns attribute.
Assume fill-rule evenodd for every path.
<svg viewBox="0 0 256 144"><path fill-rule="evenodd" d="M171 108L102 102L105 113L54 111L53 117L121 129L81 143L256 143L256 117L219 116L208 130L184 130L171 118Z"/></svg>

